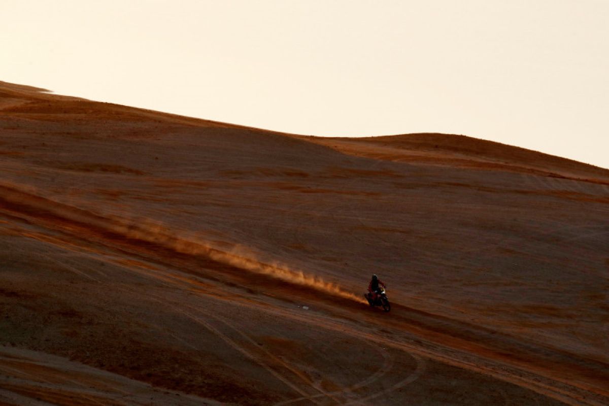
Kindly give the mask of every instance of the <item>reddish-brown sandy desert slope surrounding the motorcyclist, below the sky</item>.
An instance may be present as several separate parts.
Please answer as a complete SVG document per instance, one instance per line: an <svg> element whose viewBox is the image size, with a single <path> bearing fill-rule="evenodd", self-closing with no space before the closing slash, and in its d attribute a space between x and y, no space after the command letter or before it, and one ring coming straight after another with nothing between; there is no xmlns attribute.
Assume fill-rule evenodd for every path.
<svg viewBox="0 0 609 406"><path fill-rule="evenodd" d="M0 404L609 404L609 170L0 82L0 173Z"/></svg>

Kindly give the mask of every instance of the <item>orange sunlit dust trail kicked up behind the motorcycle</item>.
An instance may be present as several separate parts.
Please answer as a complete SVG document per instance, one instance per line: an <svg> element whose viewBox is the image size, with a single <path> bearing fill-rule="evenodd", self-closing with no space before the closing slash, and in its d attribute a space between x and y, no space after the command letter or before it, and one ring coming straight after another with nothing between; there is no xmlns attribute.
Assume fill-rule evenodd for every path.
<svg viewBox="0 0 609 406"><path fill-rule="evenodd" d="M26 191L27 190L27 191ZM104 217L49 198L41 197L31 187L0 183L0 206L33 217L54 217L68 223L77 223L89 229L97 229L127 239L153 243L182 254L205 256L222 264L231 265L252 273L267 275L292 284L311 287L341 298L363 303L363 299L347 292L339 285L326 282L317 275L294 270L279 262L262 262L258 255L247 247L234 245L230 250L214 246L214 243L177 232L162 223L150 219L124 219L116 215Z"/></svg>

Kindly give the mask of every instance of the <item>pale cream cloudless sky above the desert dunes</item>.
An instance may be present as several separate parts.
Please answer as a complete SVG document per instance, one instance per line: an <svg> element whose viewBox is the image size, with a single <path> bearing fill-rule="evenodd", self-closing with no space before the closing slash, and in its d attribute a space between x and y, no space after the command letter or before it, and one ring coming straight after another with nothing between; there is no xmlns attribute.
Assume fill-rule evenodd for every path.
<svg viewBox="0 0 609 406"><path fill-rule="evenodd" d="M609 0L0 0L0 80L318 136L609 168Z"/></svg>

